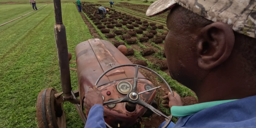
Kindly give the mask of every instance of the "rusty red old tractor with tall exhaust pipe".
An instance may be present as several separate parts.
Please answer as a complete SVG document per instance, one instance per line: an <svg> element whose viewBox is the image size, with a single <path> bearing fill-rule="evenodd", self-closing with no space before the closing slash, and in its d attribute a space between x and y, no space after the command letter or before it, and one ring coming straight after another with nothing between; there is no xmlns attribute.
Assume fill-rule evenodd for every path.
<svg viewBox="0 0 256 128"><path fill-rule="evenodd" d="M63 102L71 102L80 118L86 124L88 110L84 107L84 95L89 87L97 85L104 99L104 120L109 128L129 128L153 113L168 119L163 128L169 125L168 117L157 110L154 101L156 89L139 69L150 71L168 83L155 71L133 64L112 43L100 39L90 39L76 46L76 66L78 90L72 90L66 29L62 24L61 1L54 0L55 42L61 72L62 92L54 88L42 90L37 99L37 120L39 128L66 128ZM68 57L69 56L69 57ZM169 91L172 93L170 86ZM80 97L80 99L77 99ZM138 127L137 127L138 128Z"/></svg>

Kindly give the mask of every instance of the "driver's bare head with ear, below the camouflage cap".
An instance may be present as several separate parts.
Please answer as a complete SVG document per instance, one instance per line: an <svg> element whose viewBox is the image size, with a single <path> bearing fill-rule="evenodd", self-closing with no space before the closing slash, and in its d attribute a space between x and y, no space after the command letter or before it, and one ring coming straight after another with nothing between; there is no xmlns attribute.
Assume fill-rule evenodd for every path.
<svg viewBox="0 0 256 128"><path fill-rule="evenodd" d="M234 32L226 23L209 21L181 6L174 7L168 14L167 27L170 31L164 49L170 73L191 89L195 90L193 86L218 70L236 70L243 65L241 73L256 75L255 38ZM193 83L195 85L191 85Z"/></svg>

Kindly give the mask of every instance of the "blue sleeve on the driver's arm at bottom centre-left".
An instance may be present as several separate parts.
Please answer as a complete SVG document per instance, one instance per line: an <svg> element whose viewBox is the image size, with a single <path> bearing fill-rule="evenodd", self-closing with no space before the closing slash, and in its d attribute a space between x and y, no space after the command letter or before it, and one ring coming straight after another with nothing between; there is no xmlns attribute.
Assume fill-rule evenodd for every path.
<svg viewBox="0 0 256 128"><path fill-rule="evenodd" d="M85 128L106 128L102 105L96 104L92 106L88 114Z"/></svg>

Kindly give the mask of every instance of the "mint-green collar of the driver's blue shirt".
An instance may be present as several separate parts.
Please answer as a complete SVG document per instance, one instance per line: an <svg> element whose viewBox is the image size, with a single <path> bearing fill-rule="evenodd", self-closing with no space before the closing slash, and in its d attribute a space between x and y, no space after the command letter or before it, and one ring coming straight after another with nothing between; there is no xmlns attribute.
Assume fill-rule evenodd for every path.
<svg viewBox="0 0 256 128"><path fill-rule="evenodd" d="M213 106L231 102L231 101L235 101L235 100L220 100L220 101L204 102L204 103L194 104L190 106L172 106L171 114L174 117L189 116L199 111L202 111L208 107L213 107Z"/></svg>

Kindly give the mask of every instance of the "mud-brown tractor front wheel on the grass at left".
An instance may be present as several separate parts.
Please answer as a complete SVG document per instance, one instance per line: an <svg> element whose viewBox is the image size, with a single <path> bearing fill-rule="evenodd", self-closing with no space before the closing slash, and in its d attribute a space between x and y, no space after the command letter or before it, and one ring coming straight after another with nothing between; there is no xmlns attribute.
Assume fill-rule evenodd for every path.
<svg viewBox="0 0 256 128"><path fill-rule="evenodd" d="M36 116L39 128L66 128L65 112L55 100L54 88L42 90L37 97Z"/></svg>

